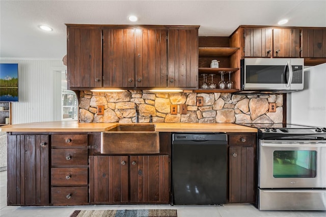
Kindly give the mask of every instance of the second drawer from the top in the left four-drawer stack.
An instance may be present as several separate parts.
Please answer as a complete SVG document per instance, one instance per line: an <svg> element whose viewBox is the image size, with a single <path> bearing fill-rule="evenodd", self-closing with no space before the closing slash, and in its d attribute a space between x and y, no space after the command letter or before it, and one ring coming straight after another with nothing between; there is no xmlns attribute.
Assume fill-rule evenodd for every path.
<svg viewBox="0 0 326 217"><path fill-rule="evenodd" d="M87 166L88 165L87 149L52 149L51 161L52 166Z"/></svg>

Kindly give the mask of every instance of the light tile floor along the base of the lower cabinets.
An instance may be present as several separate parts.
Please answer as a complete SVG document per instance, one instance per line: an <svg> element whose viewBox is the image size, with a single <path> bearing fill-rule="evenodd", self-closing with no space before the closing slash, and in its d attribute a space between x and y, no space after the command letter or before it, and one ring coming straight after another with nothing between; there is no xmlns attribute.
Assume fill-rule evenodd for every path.
<svg viewBox="0 0 326 217"><path fill-rule="evenodd" d="M255 216L326 216L326 211L259 211L251 204L224 206L170 206L170 205L107 205L107 206L7 206L7 171L0 172L0 216L69 217L79 209L177 209L178 217L255 217Z"/></svg>

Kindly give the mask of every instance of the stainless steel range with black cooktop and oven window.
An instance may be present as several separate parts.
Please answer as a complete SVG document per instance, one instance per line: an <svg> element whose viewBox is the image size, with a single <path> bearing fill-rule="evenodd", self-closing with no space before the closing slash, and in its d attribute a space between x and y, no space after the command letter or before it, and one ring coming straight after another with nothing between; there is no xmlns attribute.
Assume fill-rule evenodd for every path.
<svg viewBox="0 0 326 217"><path fill-rule="evenodd" d="M326 128L258 126L258 208L326 210Z"/></svg>

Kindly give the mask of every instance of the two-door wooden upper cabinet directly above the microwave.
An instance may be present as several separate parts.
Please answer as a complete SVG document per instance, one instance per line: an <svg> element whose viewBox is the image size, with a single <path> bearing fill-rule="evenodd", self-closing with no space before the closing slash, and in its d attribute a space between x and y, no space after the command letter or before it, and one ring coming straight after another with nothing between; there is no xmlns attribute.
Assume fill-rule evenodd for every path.
<svg viewBox="0 0 326 217"><path fill-rule="evenodd" d="M244 28L244 57L300 58L300 29Z"/></svg>

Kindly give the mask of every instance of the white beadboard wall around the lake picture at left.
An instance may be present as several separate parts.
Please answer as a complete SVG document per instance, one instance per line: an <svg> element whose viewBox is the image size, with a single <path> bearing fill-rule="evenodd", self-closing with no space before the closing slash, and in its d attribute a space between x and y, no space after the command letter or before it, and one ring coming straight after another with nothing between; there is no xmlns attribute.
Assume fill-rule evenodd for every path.
<svg viewBox="0 0 326 217"><path fill-rule="evenodd" d="M12 123L61 120L62 60L0 59L18 63L19 102L12 103Z"/></svg>

